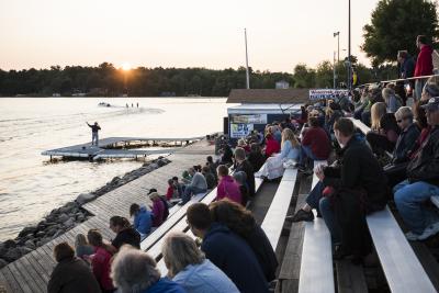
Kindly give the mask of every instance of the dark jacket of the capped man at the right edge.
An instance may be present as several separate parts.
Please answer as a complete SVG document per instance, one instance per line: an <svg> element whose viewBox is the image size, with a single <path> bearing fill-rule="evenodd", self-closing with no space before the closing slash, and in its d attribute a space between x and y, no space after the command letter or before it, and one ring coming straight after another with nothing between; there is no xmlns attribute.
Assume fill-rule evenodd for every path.
<svg viewBox="0 0 439 293"><path fill-rule="evenodd" d="M409 182L439 184L439 126L435 126L416 157L407 166Z"/></svg>

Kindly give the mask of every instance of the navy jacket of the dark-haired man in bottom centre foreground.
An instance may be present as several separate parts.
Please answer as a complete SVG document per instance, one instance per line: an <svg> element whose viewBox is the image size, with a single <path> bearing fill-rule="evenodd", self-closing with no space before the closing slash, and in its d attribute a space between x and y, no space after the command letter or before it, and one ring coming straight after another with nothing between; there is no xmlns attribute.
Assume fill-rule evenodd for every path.
<svg viewBox="0 0 439 293"><path fill-rule="evenodd" d="M248 244L219 223L204 235L201 250L243 293L268 292L258 259Z"/></svg>

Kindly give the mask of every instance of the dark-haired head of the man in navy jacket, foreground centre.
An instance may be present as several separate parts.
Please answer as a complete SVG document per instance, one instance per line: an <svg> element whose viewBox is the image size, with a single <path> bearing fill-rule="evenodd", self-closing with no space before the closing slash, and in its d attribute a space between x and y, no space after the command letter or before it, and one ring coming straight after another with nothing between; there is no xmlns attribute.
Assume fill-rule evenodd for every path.
<svg viewBox="0 0 439 293"><path fill-rule="evenodd" d="M203 238L212 225L209 206L201 202L194 203L188 207L185 216L191 232L195 236Z"/></svg>

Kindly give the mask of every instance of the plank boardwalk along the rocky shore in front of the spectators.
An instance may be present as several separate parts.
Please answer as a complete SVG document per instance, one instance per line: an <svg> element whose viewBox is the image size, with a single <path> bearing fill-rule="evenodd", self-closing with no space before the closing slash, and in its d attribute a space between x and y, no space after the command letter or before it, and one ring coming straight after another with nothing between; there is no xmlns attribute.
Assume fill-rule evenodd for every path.
<svg viewBox="0 0 439 293"><path fill-rule="evenodd" d="M46 292L47 282L56 264L53 249L57 244L67 241L74 245L77 234L87 234L91 228L100 229L105 239L114 238L114 233L109 228L111 216L121 215L128 218L132 203L149 203L147 190L156 188L159 193L165 193L169 178L180 177L183 170L195 164L204 164L209 155L214 155L214 147L204 139L182 147L169 156L170 164L85 204L82 207L92 213L93 217L0 269L0 292L3 293L3 288L5 292L13 293Z"/></svg>

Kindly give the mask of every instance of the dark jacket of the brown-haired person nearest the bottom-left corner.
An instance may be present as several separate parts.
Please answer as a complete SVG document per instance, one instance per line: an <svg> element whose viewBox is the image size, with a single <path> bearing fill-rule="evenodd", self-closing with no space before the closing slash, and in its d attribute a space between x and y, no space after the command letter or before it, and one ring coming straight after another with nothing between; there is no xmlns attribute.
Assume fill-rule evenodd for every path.
<svg viewBox="0 0 439 293"><path fill-rule="evenodd" d="M48 293L99 293L101 289L90 267L81 259L64 259L56 264L47 284Z"/></svg>

